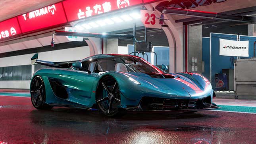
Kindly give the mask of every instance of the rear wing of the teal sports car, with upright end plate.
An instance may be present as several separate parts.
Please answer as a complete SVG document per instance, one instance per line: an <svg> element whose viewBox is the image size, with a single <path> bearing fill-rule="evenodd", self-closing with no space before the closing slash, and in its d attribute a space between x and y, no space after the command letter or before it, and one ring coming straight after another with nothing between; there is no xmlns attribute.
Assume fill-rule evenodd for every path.
<svg viewBox="0 0 256 144"><path fill-rule="evenodd" d="M72 63L76 61L65 61L65 62L52 62L52 61L42 61L38 60L38 53L35 54L31 58L31 65L40 64L40 65L46 65L49 67L58 67L58 68L69 68L72 66Z"/></svg>

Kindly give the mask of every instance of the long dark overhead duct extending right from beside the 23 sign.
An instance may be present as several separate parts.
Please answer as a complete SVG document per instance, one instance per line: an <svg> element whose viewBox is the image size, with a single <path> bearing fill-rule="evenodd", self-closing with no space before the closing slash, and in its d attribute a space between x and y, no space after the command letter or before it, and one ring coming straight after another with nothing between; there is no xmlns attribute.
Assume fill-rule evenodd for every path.
<svg viewBox="0 0 256 144"><path fill-rule="evenodd" d="M191 17L202 17L202 18L208 18L208 19L240 21L240 22L246 22L246 23L254 22L254 18L248 17L248 16L227 15L223 13L205 12L205 11L188 10L188 9L171 8L171 7L165 7L162 13L174 14L174 15L185 15L185 16L191 16Z"/></svg>

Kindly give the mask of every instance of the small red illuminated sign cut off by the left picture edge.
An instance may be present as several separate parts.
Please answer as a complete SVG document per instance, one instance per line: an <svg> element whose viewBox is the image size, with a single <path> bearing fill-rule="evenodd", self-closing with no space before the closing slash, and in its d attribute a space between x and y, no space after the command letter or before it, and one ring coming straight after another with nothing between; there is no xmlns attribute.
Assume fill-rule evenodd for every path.
<svg viewBox="0 0 256 144"><path fill-rule="evenodd" d="M0 22L0 39L20 34L19 23L16 17Z"/></svg>

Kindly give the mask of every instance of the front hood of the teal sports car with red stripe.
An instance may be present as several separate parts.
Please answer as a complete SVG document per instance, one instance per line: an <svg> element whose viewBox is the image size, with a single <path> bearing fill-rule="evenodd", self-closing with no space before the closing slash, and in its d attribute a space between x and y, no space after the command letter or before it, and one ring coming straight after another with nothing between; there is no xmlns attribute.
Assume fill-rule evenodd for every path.
<svg viewBox="0 0 256 144"><path fill-rule="evenodd" d="M206 87L193 79L178 76L176 74L160 73L130 73L138 78L139 81L149 83L155 90L161 90L177 96L198 96L206 91ZM162 77L160 75L163 75Z"/></svg>

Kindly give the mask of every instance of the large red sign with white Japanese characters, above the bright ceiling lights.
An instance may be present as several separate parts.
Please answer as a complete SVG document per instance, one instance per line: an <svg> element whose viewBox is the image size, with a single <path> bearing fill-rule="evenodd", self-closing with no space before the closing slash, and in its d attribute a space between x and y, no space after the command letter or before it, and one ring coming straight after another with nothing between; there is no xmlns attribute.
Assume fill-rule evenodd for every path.
<svg viewBox="0 0 256 144"><path fill-rule="evenodd" d="M63 6L68 21L75 21L141 3L142 0L65 0Z"/></svg>

